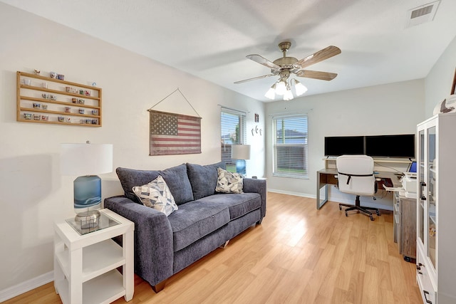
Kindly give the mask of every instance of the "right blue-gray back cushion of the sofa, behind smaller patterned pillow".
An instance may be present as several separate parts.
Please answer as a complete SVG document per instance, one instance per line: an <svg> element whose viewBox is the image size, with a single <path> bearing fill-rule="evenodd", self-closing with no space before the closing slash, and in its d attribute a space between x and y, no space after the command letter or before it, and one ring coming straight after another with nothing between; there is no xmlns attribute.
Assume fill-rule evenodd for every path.
<svg viewBox="0 0 456 304"><path fill-rule="evenodd" d="M227 169L224 162L217 164L189 164L187 163L187 172L192 184L193 198L201 199L204 196L215 194L217 187L217 168Z"/></svg>

